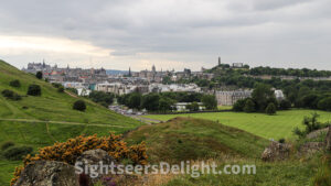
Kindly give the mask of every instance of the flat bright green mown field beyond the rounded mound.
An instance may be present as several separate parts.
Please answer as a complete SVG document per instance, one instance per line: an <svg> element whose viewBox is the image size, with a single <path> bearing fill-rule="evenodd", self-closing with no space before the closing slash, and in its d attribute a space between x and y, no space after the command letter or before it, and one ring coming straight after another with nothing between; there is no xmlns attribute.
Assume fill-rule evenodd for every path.
<svg viewBox="0 0 331 186"><path fill-rule="evenodd" d="M314 110L288 110L278 111L276 116L264 113L243 112L212 112L212 113L188 113L188 114L151 114L146 118L167 121L175 117L192 117L218 121L220 123L238 128L256 135L279 140L280 138L292 139L292 130L296 127L302 128L305 116L312 112L320 114L320 121L331 121L331 112Z"/></svg>

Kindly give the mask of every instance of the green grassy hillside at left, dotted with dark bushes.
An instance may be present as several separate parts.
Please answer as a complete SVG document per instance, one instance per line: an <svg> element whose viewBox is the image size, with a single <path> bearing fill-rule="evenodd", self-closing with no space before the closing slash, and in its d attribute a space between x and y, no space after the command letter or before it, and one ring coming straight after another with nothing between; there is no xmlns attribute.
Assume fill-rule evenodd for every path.
<svg viewBox="0 0 331 186"><path fill-rule="evenodd" d="M9 86L9 81L14 79L21 81L21 88ZM20 101L11 101L0 95L0 119L30 119L45 122L0 121L0 144L4 141L13 141L18 145L30 145L36 150L79 134L106 135L109 131L124 133L141 125L136 120L117 114L88 100L86 100L85 112L75 111L72 105L77 98L60 94L50 84L0 61L0 91L11 89L24 96L28 86L32 83L42 87L42 96L28 96ZM28 107L28 109L22 109L22 107ZM46 121L68 121L77 122L77 124L47 123ZM7 161L0 156L0 185L8 185L14 167L19 164L20 162Z"/></svg>

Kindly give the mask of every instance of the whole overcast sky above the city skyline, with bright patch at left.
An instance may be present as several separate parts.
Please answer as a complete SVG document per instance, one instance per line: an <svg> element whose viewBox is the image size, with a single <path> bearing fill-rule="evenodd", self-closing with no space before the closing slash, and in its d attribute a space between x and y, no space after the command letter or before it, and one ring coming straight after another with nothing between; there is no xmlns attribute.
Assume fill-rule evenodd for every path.
<svg viewBox="0 0 331 186"><path fill-rule="evenodd" d="M330 0L0 0L17 67L182 70L225 63L331 69Z"/></svg>

